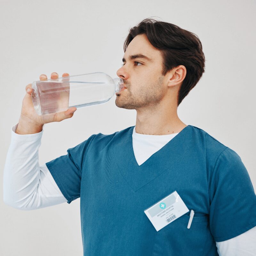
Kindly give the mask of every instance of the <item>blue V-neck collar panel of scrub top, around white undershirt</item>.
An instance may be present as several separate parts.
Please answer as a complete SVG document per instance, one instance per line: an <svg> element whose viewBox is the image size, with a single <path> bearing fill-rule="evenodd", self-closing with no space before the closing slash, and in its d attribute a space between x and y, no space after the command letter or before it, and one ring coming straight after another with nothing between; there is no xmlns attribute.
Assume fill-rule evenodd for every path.
<svg viewBox="0 0 256 256"><path fill-rule="evenodd" d="M172 140L167 142L141 165L137 163L132 146L134 127L128 127L116 134L114 137L113 156L124 179L134 191L137 191L165 170L171 170L172 164L186 153L193 126L187 125L184 127Z"/></svg>

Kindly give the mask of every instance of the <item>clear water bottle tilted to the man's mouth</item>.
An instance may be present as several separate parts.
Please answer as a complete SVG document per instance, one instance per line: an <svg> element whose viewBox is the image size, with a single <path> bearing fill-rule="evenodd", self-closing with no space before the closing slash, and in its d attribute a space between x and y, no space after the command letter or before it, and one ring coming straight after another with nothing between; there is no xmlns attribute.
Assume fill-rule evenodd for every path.
<svg viewBox="0 0 256 256"><path fill-rule="evenodd" d="M32 101L37 115L103 104L124 88L123 79L103 72L34 81Z"/></svg>

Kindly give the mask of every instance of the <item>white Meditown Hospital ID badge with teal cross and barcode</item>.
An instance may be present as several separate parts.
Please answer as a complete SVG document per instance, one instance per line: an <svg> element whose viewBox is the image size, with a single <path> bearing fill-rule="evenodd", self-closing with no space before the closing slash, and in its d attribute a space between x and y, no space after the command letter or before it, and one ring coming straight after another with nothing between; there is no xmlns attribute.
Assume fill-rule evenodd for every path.
<svg viewBox="0 0 256 256"><path fill-rule="evenodd" d="M172 221L189 212L189 210L175 190L156 204L148 207L144 212L156 228L156 231L159 231Z"/></svg>

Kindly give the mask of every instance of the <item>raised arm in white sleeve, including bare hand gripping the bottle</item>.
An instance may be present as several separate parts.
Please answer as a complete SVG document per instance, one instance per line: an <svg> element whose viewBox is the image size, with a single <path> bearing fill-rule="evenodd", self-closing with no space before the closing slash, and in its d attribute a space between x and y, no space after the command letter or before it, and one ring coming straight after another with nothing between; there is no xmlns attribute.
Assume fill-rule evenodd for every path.
<svg viewBox="0 0 256 256"><path fill-rule="evenodd" d="M65 76L69 74L62 75ZM51 79L58 77L55 72L51 74ZM42 80L47 80L47 76L41 75ZM32 84L28 84L25 90L19 123L12 127L11 145L4 166L3 192L6 204L32 210L65 202L46 165L39 166L38 148L43 125L72 117L76 108L39 116L32 102Z"/></svg>

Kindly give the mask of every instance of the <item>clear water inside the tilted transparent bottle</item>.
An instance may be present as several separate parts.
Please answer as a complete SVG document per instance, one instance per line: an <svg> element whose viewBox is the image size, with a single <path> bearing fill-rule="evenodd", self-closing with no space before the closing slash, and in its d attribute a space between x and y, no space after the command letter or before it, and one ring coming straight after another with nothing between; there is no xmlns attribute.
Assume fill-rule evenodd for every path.
<svg viewBox="0 0 256 256"><path fill-rule="evenodd" d="M115 85L110 83L37 81L36 85L40 98L40 115L66 111L71 107L102 104L115 93Z"/></svg>

